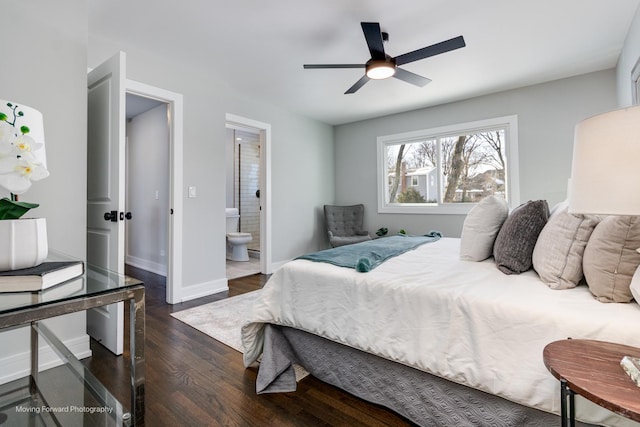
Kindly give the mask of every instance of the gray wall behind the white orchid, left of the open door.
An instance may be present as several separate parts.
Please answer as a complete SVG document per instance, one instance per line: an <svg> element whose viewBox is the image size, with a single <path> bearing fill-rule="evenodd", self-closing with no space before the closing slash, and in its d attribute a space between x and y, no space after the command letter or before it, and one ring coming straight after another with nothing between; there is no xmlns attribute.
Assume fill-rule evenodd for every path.
<svg viewBox="0 0 640 427"><path fill-rule="evenodd" d="M40 203L29 215L47 218L51 248L86 259L86 1L12 2L0 14L0 28L5 50L0 97L44 116L51 175L22 200ZM49 324L77 356L88 355L84 313ZM27 373L28 337L25 329L0 334L0 380Z"/></svg>

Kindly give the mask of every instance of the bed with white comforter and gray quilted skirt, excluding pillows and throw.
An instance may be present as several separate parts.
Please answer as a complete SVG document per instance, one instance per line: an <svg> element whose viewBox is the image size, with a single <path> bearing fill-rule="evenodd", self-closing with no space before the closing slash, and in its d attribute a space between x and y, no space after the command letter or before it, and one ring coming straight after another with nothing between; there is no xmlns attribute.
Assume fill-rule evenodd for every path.
<svg viewBox="0 0 640 427"><path fill-rule="evenodd" d="M259 392L292 391L291 364L419 425L556 425L559 383L542 360L567 337L640 347L640 307L586 285L558 290L442 238L360 273L297 259L277 270L242 328ZM637 424L581 398L577 416ZM497 418L496 418L497 417Z"/></svg>

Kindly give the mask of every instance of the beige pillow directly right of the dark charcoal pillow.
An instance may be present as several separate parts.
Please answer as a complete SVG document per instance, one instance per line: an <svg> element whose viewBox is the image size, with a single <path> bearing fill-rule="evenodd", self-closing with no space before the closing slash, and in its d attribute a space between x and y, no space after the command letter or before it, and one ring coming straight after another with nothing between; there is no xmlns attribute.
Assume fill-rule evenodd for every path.
<svg viewBox="0 0 640 427"><path fill-rule="evenodd" d="M551 289L578 286L584 248L599 221L596 215L570 214L566 206L551 214L533 250L533 269Z"/></svg>

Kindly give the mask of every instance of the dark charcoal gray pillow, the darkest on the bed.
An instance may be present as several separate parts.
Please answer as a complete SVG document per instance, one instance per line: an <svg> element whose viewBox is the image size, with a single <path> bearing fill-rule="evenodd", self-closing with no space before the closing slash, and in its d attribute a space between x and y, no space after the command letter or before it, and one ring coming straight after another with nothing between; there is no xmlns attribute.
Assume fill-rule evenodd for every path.
<svg viewBox="0 0 640 427"><path fill-rule="evenodd" d="M549 219L546 200L524 203L511 212L498 232L493 258L504 274L520 274L531 268L538 235Z"/></svg>

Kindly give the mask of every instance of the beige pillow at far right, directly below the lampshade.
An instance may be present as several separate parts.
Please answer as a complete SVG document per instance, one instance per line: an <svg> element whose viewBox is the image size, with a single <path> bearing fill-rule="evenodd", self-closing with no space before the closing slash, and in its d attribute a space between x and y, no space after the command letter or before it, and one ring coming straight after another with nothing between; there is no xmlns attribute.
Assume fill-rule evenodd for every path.
<svg viewBox="0 0 640 427"><path fill-rule="evenodd" d="M582 268L600 302L630 302L631 278L640 265L640 217L608 216L593 230Z"/></svg>

